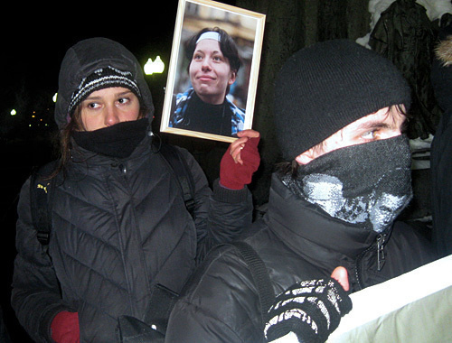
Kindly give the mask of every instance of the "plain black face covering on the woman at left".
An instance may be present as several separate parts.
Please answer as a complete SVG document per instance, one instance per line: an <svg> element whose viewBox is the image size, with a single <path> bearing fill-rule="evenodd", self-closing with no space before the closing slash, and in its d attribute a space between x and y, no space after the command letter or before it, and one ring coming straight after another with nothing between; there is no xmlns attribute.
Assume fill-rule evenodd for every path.
<svg viewBox="0 0 452 343"><path fill-rule="evenodd" d="M72 133L75 142L93 153L109 157L127 158L145 138L149 119L122 122L95 131Z"/></svg>

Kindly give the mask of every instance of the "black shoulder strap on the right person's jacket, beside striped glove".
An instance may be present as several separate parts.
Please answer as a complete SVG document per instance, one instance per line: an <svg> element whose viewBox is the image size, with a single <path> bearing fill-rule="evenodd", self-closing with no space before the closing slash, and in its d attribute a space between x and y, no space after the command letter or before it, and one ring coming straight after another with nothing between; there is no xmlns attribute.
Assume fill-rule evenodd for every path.
<svg viewBox="0 0 452 343"><path fill-rule="evenodd" d="M235 241L231 242L230 245L235 246L239 250L241 257L243 257L243 260L250 269L253 282L258 289L261 326L262 332L264 332L263 329L265 328L265 324L267 322L268 310L276 299L267 267L256 250L254 250L254 248L248 243L243 241Z"/></svg>

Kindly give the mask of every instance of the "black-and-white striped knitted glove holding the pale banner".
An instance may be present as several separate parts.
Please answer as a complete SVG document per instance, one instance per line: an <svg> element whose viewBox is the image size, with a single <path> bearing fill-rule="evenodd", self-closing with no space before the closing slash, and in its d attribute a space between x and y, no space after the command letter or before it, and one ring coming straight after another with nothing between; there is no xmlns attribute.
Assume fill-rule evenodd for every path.
<svg viewBox="0 0 452 343"><path fill-rule="evenodd" d="M265 337L271 342L293 332L300 343L323 343L350 310L352 300L334 279L296 283L268 310Z"/></svg>

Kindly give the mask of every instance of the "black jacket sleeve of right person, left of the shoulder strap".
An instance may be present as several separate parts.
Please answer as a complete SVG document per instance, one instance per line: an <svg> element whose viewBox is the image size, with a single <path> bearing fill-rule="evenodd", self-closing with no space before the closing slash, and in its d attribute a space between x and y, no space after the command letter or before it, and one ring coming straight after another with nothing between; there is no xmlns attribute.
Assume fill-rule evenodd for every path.
<svg viewBox="0 0 452 343"><path fill-rule="evenodd" d="M165 343L263 341L259 297L238 253L212 249L192 281L171 312Z"/></svg>

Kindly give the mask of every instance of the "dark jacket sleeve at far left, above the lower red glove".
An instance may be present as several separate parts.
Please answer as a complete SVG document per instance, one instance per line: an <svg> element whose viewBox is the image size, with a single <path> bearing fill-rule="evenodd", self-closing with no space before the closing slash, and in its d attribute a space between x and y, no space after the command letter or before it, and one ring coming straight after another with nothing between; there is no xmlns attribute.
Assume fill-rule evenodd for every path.
<svg viewBox="0 0 452 343"><path fill-rule="evenodd" d="M34 341L52 342L50 324L53 317L70 308L61 301L52 261L38 242L32 225L30 180L22 187L17 210L17 256L11 303L19 322Z"/></svg>

